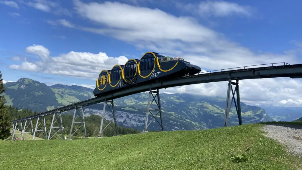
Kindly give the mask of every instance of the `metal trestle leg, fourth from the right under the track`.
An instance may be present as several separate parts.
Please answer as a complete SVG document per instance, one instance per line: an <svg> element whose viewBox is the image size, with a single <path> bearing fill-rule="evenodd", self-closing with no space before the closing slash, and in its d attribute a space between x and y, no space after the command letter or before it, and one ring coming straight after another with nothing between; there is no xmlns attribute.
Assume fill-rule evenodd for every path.
<svg viewBox="0 0 302 170"><path fill-rule="evenodd" d="M77 116L76 116L76 113L77 113ZM76 117L75 117L76 116ZM77 117L81 117L81 121L80 122L76 122L76 118ZM68 137L68 140L72 140L71 139L71 136L77 131L79 130L80 132L82 132L80 130L80 127L83 125L84 126L84 135L85 135L85 139L88 139L87 138L87 135L86 135L86 126L85 126L85 121L84 121L84 111L83 111L83 107L76 107L75 110L73 111L73 118L72 118L72 123L71 123L71 127L70 127L70 132L69 132L69 137ZM79 127L76 126L76 124L81 124ZM76 130L72 133L72 128L73 126L76 127ZM82 132L83 133L83 132Z"/></svg>

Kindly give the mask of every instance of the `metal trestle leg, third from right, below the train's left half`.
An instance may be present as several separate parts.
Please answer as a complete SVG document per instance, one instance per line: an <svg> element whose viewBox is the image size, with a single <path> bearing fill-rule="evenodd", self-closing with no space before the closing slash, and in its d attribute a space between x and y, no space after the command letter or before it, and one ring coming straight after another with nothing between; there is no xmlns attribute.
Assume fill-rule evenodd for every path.
<svg viewBox="0 0 302 170"><path fill-rule="evenodd" d="M110 103L110 105L108 105L108 103ZM110 122L108 122L106 119L105 119L105 113L106 113L106 105L108 106L112 116L110 115ZM111 109L112 107L112 109ZM115 135L116 136L119 136L118 135L118 132L117 132L117 121L116 121L116 115L115 115L115 110L114 110L114 103L113 103L113 100L106 100L104 101L104 107L103 107L103 113L102 113L102 116L101 116L101 127L100 127L100 132L98 134L98 138L102 138L103 137L103 131L108 127L108 126L111 126L111 122L114 121L114 127L111 126L111 128L114 130L115 132ZM104 127L103 129L103 121L105 120L105 122L107 122L107 126Z"/></svg>

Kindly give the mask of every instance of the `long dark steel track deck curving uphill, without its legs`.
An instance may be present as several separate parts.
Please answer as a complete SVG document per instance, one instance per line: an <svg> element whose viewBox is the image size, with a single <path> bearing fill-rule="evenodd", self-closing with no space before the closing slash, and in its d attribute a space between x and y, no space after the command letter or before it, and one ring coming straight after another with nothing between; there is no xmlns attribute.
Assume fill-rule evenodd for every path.
<svg viewBox="0 0 302 170"><path fill-rule="evenodd" d="M175 80L168 80L162 82L156 82L151 84L146 84L142 86L135 86L131 88L127 88L124 90L120 90L118 92L110 93L104 96L95 97L92 99L84 100L81 102L77 102L68 106L63 106L57 109L49 110L43 113L39 113L33 116L24 117L21 119L16 119L11 121L12 123L16 121L22 121L25 119L33 119L38 116L53 114L55 112L65 112L68 110L73 110L78 106L89 106L96 103L101 103L106 100L116 99L124 96L128 96L135 93L141 93L145 91L190 85L190 84L199 84L199 83L210 83L210 82L220 82L220 81L228 81L232 80L246 80L246 79L259 79L259 78L273 78L273 77L291 77L291 78L302 78L302 64L294 64L294 65L279 65L279 66L268 66L268 67L255 67L255 68L246 68L237 70L218 70L218 72L204 72L199 73L193 76L182 77ZM239 67L237 67L239 68ZM217 71L217 70L215 70Z"/></svg>

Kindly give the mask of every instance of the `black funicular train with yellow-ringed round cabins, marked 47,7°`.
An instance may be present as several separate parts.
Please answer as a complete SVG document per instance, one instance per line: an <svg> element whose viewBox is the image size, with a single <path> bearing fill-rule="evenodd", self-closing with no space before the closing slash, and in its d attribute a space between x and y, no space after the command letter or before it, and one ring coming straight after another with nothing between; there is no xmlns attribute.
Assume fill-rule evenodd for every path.
<svg viewBox="0 0 302 170"><path fill-rule="evenodd" d="M140 60L130 59L125 65L114 65L111 70L102 70L93 93L94 96L101 96L112 90L171 80L200 71L200 67L180 57L165 57L156 52L146 52Z"/></svg>

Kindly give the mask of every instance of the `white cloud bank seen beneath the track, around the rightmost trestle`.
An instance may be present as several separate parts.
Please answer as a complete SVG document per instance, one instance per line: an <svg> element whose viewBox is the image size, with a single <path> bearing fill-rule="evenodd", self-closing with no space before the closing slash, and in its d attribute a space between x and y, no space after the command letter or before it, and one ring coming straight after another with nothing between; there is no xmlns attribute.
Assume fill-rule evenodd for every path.
<svg viewBox="0 0 302 170"><path fill-rule="evenodd" d="M226 97L227 84L227 81L194 84L173 87L165 89L165 91ZM235 90L235 86L233 86L233 90ZM240 100L249 105L302 106L300 103L302 82L300 80L291 78L239 80L239 92Z"/></svg>

